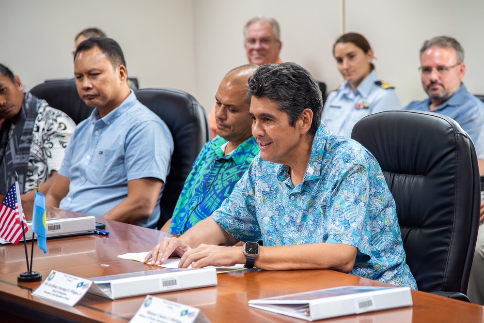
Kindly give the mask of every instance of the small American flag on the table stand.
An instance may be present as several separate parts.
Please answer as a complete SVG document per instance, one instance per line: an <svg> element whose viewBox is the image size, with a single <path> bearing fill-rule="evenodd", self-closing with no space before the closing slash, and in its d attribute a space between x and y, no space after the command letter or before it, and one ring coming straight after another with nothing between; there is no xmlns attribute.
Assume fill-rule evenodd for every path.
<svg viewBox="0 0 484 323"><path fill-rule="evenodd" d="M0 207L0 238L13 244L17 244L22 238L22 222L25 215L19 214L16 194L16 183L8 189L7 195L1 202ZM27 224L24 225L25 232L28 231Z"/></svg>

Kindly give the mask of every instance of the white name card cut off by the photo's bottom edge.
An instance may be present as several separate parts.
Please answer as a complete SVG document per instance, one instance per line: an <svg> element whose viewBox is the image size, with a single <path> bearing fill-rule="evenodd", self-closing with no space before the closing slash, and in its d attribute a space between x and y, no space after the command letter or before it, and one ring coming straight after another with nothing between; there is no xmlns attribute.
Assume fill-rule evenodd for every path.
<svg viewBox="0 0 484 323"><path fill-rule="evenodd" d="M147 295L130 323L210 323L198 308Z"/></svg>

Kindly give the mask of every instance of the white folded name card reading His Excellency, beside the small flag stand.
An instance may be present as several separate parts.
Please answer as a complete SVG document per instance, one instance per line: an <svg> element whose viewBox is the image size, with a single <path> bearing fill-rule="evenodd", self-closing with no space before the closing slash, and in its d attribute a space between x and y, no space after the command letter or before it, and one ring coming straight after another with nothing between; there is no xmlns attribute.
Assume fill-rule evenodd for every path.
<svg viewBox="0 0 484 323"><path fill-rule="evenodd" d="M92 281L52 270L32 295L74 306L92 285Z"/></svg>

